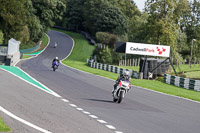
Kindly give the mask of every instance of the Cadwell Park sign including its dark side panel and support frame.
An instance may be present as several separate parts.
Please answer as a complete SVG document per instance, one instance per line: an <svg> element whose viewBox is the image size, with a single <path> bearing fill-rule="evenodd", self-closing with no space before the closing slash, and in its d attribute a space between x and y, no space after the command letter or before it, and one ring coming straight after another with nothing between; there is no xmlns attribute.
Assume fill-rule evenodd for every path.
<svg viewBox="0 0 200 133"><path fill-rule="evenodd" d="M141 58L140 60L140 71L139 71L139 72L146 73L145 75L152 76L152 74L157 68L159 68L162 64L166 64L165 62L167 62L167 60L169 60L170 65L172 66L175 74L177 75L176 70L174 69L171 59L170 59L170 46L143 44L143 43L134 43L134 42L117 42L115 46L116 46L115 51L120 52L120 53L125 53L125 58L126 58L126 54L145 56L145 59ZM165 57L166 59L165 60L160 59L163 61L157 63L157 65L154 66L152 65L152 62L150 61L151 58L147 59L147 56ZM158 60L158 59L154 59L154 60ZM153 69L150 70L150 68L146 68L150 66L154 66Z"/></svg>

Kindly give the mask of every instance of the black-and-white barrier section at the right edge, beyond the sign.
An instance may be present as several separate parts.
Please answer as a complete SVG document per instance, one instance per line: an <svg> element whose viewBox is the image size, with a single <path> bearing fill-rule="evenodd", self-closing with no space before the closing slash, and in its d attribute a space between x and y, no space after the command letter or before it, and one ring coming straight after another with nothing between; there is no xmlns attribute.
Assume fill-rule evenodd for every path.
<svg viewBox="0 0 200 133"><path fill-rule="evenodd" d="M194 80L194 79L164 74L164 82L181 88L200 91L200 80Z"/></svg>

